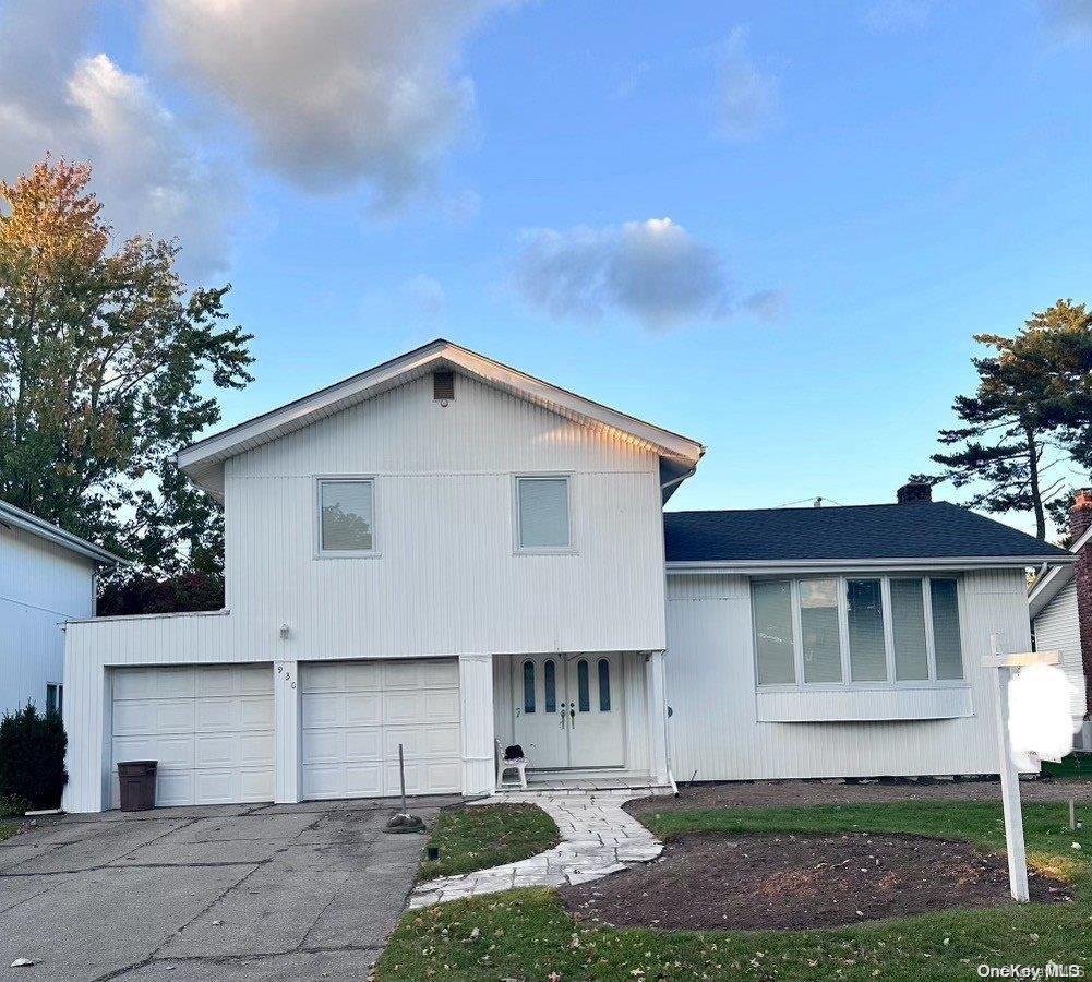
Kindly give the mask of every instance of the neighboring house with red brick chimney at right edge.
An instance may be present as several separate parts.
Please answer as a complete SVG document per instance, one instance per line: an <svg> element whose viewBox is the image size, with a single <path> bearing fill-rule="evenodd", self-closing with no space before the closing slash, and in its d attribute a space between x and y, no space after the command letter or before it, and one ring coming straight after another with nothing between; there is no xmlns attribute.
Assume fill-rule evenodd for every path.
<svg viewBox="0 0 1092 982"><path fill-rule="evenodd" d="M1092 750L1092 492L1077 495L1069 512L1070 552L1077 561L1043 570L1028 596L1035 648L1060 651L1061 666L1078 691L1073 698L1073 722L1080 729L1077 749Z"/></svg>

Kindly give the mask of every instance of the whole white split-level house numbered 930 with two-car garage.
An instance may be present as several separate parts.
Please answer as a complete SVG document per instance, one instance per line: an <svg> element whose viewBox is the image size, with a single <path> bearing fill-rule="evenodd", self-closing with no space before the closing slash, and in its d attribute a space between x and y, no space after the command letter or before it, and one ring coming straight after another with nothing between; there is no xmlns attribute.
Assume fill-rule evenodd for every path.
<svg viewBox="0 0 1092 982"><path fill-rule="evenodd" d="M665 516L703 452L446 341L182 450L226 608L69 625L66 807L996 771L981 656L1073 557L917 485Z"/></svg>

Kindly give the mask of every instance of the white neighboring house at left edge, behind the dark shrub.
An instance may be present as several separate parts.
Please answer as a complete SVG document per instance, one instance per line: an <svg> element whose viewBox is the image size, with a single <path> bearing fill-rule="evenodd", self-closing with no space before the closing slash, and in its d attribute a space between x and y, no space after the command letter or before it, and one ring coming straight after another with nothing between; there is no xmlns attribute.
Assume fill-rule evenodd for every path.
<svg viewBox="0 0 1092 982"><path fill-rule="evenodd" d="M95 579L120 561L97 545L0 501L0 715L33 702L61 709L60 625L95 614Z"/></svg>

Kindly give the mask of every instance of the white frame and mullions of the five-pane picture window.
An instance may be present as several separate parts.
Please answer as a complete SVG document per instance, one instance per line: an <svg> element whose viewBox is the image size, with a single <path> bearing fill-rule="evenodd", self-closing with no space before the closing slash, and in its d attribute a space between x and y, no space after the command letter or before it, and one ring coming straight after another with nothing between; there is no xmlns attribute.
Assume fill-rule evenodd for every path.
<svg viewBox="0 0 1092 982"><path fill-rule="evenodd" d="M963 581L959 576L940 575L930 576L928 572L922 573L840 573L824 576L817 573L814 576L796 577L756 577L751 582L778 581L788 579L790 603L792 605L791 616L793 625L793 672L796 677L791 683L760 683L758 671L758 646L755 643L755 603L751 598L751 659L755 672L755 688L761 693L844 693L844 691L883 691L887 689L934 689L934 688L968 688L970 682L966 678L966 646L963 636ZM850 580L880 580L880 595L883 607L883 644L887 660L888 677L883 682L853 682L850 663L850 613L846 602L846 583ZM960 624L960 651L963 658L962 678L937 678L936 642L933 637L933 598L929 590L929 580L954 580L956 602L959 611ZM836 580L838 581L838 626L839 643L842 654L842 681L841 682L805 682L804 681L804 636L800 623L800 580ZM905 678L897 679L894 672L894 618L891 616L891 580L921 580L924 596L925 617L925 650L928 661L928 678Z"/></svg>

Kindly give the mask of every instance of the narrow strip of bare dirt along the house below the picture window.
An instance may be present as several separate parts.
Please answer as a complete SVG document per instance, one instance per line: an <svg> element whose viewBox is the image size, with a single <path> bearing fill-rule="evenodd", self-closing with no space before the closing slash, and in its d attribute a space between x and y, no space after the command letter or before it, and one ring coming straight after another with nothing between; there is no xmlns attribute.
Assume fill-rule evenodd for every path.
<svg viewBox="0 0 1092 982"><path fill-rule="evenodd" d="M1021 781L1025 802L1092 803L1092 781ZM719 784L682 784L679 796L640 798L627 812L677 812L703 808L778 808L797 805L860 805L883 802L1000 802L1001 786L994 780L898 779L869 781L729 781Z"/></svg>

